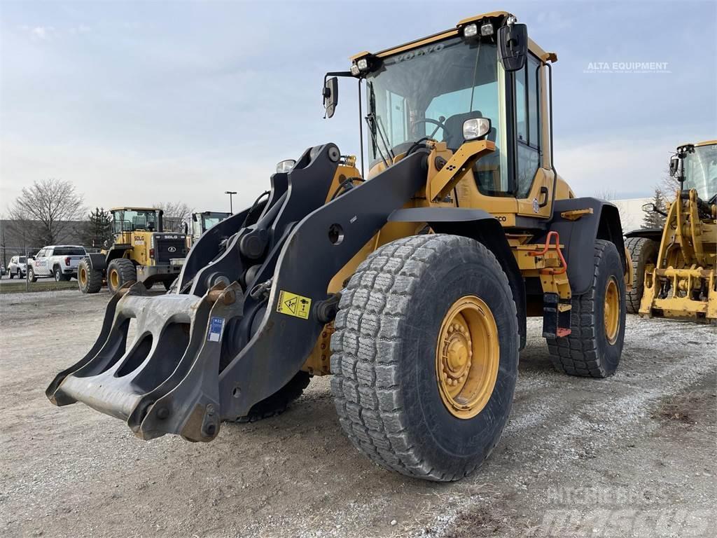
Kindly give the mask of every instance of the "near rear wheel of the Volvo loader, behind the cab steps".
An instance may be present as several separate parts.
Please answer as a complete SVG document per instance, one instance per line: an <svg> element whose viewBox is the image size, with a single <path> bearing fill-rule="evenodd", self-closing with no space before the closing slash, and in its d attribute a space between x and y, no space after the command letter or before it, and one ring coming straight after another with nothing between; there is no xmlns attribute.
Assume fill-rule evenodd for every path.
<svg viewBox="0 0 717 538"><path fill-rule="evenodd" d="M547 339L554 367L581 377L617 370L625 338L625 273L614 243L595 240L590 289L573 296L568 336Z"/></svg>

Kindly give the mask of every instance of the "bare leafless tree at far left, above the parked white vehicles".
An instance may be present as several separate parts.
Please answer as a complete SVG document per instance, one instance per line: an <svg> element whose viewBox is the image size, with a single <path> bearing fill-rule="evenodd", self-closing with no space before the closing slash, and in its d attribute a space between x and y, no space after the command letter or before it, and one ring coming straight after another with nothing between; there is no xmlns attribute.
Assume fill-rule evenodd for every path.
<svg viewBox="0 0 717 538"><path fill-rule="evenodd" d="M85 214L84 199L75 185L61 179L35 181L25 187L9 209L16 232L30 242L53 245Z"/></svg>

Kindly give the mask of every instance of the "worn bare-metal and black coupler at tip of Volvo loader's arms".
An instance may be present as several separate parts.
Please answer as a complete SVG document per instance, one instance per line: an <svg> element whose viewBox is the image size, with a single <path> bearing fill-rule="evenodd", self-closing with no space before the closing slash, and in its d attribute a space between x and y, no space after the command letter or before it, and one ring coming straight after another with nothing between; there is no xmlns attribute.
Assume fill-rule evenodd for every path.
<svg viewBox="0 0 717 538"><path fill-rule="evenodd" d="M122 290L90 353L58 374L47 397L125 420L141 438L179 433L211 440L219 431L222 332L228 319L242 315L243 302L237 284L214 286L203 297L147 296L141 283ZM131 320L136 333L128 343Z"/></svg>

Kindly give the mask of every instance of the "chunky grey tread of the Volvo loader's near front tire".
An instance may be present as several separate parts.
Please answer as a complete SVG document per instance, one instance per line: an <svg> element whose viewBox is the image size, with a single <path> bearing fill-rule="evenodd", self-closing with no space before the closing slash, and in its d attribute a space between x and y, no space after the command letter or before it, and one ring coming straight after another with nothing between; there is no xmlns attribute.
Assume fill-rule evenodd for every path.
<svg viewBox="0 0 717 538"><path fill-rule="evenodd" d="M478 248L498 265L485 246L465 237L416 235L384 245L349 280L334 322L331 391L343 430L371 461L415 478L455 481L483 463L457 472L429 466L409 436L399 387L399 324L411 308L419 281L431 260L447 249L466 246ZM508 278L502 270L500 274L498 284L511 296ZM513 301L511 306L515 316Z"/></svg>

